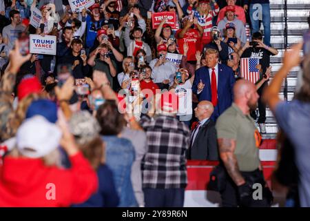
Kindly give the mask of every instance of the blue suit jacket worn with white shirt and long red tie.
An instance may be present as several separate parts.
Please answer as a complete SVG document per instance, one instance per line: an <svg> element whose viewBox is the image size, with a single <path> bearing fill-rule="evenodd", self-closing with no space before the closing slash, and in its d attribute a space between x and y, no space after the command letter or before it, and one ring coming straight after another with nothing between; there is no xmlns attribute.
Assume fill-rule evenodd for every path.
<svg viewBox="0 0 310 221"><path fill-rule="evenodd" d="M197 86L199 81L203 81L205 88L198 95L198 100L207 100L211 102L211 81L209 76L209 69L207 67L202 67L196 70L195 79L193 84L193 93L197 94ZM234 100L233 87L236 82L234 77L234 71L225 64L218 64L218 105L214 109L214 114L211 119L216 121L218 116L223 113Z"/></svg>

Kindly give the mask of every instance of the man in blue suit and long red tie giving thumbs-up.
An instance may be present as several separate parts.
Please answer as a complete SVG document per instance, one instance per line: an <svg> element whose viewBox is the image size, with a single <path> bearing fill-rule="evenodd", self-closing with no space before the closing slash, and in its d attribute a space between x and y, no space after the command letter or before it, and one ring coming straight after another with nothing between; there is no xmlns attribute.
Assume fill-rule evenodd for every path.
<svg viewBox="0 0 310 221"><path fill-rule="evenodd" d="M205 63L207 66L196 70L192 89L199 101L207 100L213 104L211 119L216 122L218 116L231 106L236 80L229 66L218 64L218 50L208 48Z"/></svg>

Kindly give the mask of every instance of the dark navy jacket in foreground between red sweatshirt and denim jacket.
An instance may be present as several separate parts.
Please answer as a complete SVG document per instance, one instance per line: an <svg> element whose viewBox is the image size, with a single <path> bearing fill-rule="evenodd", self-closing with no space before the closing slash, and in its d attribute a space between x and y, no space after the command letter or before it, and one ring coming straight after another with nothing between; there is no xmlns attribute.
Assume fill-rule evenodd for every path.
<svg viewBox="0 0 310 221"><path fill-rule="evenodd" d="M115 189L112 171L106 165L101 165L97 169L99 189L82 204L73 207L116 207L118 205L118 194Z"/></svg>

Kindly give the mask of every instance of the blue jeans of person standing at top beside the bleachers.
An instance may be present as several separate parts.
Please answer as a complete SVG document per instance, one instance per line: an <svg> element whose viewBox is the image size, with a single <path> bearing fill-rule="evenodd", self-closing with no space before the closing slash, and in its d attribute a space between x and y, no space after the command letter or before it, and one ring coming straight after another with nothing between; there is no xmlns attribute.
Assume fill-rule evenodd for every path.
<svg viewBox="0 0 310 221"><path fill-rule="evenodd" d="M270 5L269 3L250 4L249 15L250 15L251 25L252 25L252 30L251 30L252 34L260 30L260 20L258 18L258 15L260 15L260 12L256 12L258 8L256 8L255 5L262 6L262 25L264 26L264 33L265 33L264 44L267 46L271 46L270 45L270 20L271 20L270 19Z"/></svg>

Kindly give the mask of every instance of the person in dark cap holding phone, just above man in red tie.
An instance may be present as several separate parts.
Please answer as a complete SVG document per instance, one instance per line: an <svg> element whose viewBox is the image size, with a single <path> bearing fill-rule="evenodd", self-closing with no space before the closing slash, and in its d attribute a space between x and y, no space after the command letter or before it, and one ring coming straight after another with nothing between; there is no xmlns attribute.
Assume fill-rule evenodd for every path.
<svg viewBox="0 0 310 221"><path fill-rule="evenodd" d="M241 48L241 41L236 37L236 27L234 23L227 23L224 30L223 41L229 46L228 53L238 52Z"/></svg>

